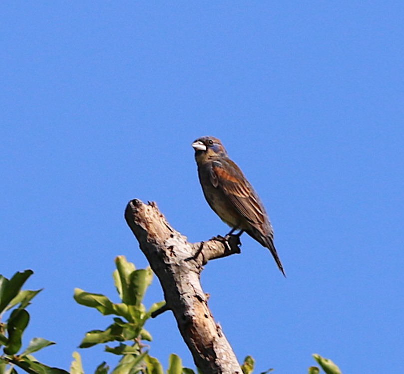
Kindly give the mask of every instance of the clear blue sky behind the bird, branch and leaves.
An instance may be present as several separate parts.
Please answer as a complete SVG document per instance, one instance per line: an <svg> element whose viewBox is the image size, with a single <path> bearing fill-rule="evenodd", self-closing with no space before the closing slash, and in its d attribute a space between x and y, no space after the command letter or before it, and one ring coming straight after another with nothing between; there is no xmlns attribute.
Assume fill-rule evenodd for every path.
<svg viewBox="0 0 404 374"><path fill-rule="evenodd" d="M32 268L25 334L68 368L110 319L113 259L147 262L128 200L155 200L191 241L223 234L191 142L222 139L265 203L288 278L242 236L202 274L241 361L401 372L404 352L403 1L3 1L0 273ZM162 298L157 281L147 303ZM151 354L193 366L170 312ZM87 372L113 356L80 349Z"/></svg>

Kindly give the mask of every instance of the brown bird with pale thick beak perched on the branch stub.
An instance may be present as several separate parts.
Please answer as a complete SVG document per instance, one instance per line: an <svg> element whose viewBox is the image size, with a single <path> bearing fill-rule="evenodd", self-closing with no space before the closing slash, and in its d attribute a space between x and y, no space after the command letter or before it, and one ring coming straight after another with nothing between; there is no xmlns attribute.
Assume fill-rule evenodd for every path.
<svg viewBox="0 0 404 374"><path fill-rule="evenodd" d="M214 136L202 136L192 147L203 194L213 211L231 227L227 235L236 230L240 230L238 236L247 232L270 250L286 277L264 204L240 167L230 159L222 142Z"/></svg>

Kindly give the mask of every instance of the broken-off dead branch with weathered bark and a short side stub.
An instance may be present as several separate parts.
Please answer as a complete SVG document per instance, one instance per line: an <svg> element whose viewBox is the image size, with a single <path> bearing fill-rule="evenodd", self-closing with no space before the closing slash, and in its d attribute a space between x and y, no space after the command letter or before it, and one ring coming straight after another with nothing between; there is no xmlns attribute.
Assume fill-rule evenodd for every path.
<svg viewBox="0 0 404 374"><path fill-rule="evenodd" d="M164 291L166 306L154 316L172 310L194 362L203 373L241 373L200 283L203 265L209 259L240 253L238 236L190 243L171 227L154 202L144 204L137 199L129 201L125 219Z"/></svg>

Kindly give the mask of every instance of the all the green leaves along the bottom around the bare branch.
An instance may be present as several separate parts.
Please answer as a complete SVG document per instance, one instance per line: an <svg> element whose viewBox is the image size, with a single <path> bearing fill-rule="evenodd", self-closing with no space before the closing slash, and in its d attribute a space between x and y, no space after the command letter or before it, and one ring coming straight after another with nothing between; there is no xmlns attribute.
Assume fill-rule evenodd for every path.
<svg viewBox="0 0 404 374"><path fill-rule="evenodd" d="M112 315L112 323L104 329L88 331L80 343L80 348L89 348L96 344L113 342L112 346L105 345L105 351L121 356L115 368L110 370L105 361L95 369L95 374L164 374L159 360L148 353L148 345L143 341L151 341L151 334L144 328L146 321L151 318L154 311L165 306L160 301L146 309L142 303L147 287L151 284L153 273L146 269L136 269L124 256L115 259L116 270L113 279L120 302L114 303L107 296L100 293L90 293L82 289L74 290L74 299L81 305L94 308L103 315ZM22 335L29 322L29 313L26 307L30 301L41 291L21 290L21 287L32 275L32 270L15 273L11 279L0 275L0 374L17 374L21 368L29 374L68 374L67 371L47 366L32 356L31 353L54 344L53 341L41 337L34 337L28 346L20 352ZM9 314L5 322L1 322L3 315ZM19 353L18 353L19 352ZM313 354L316 361L326 374L341 374L341 370L330 359L319 354ZM243 374L252 374L254 359L247 356L241 369ZM267 374L269 369L261 374ZM181 358L176 354L169 357L167 374L195 374L195 371L182 366ZM198 374L200 373L197 370ZM320 368L311 366L309 374L319 374ZM81 356L73 352L73 361L70 374L84 374Z"/></svg>

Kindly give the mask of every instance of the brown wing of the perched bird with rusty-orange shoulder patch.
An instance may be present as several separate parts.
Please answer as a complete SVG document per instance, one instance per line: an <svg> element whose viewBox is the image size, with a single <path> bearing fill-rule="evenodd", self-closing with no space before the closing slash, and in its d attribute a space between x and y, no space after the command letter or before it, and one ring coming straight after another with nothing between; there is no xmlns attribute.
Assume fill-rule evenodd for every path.
<svg viewBox="0 0 404 374"><path fill-rule="evenodd" d="M252 224L266 220L265 209L240 168L230 159L213 161L211 182L222 189L233 206Z"/></svg>

